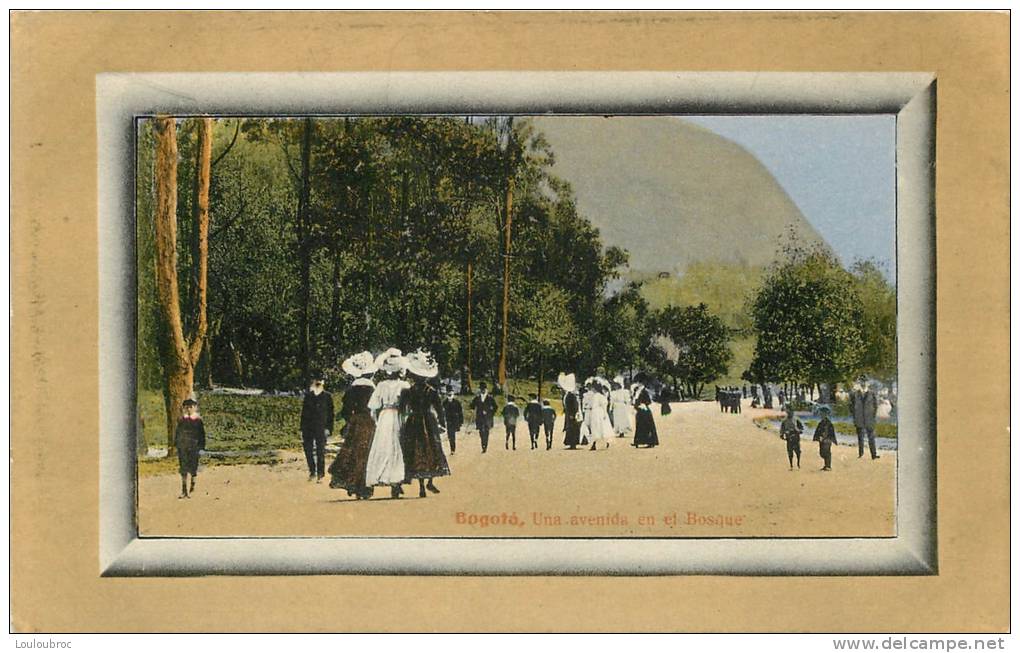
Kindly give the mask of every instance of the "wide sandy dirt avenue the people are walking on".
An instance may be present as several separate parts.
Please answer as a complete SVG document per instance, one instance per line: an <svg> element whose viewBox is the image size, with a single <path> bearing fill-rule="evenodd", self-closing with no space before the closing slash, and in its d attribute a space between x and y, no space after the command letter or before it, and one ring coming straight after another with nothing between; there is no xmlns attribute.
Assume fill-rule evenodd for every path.
<svg viewBox="0 0 1020 653"><path fill-rule="evenodd" d="M656 408L658 413L658 408ZM568 451L557 423L551 451L528 449L518 425L517 451L503 448L497 426L481 455L476 433L461 433L449 456L453 475L442 494L394 501L354 501L306 480L303 456L277 465L203 467L198 492L178 500L178 479L143 478L143 536L516 536L754 537L892 536L894 452L857 458L833 449L833 470L820 471L806 434L802 469L789 471L785 444L752 423L763 410L722 414L716 404L674 404L656 414L661 446L634 449L614 439L608 450ZM516 515L518 523L512 523ZM473 517L473 518L472 518ZM488 517L488 519L482 519ZM694 522L692 522L694 519ZM473 523L468 523L472 521ZM482 525L482 521L495 521ZM537 523L538 521L538 523Z"/></svg>

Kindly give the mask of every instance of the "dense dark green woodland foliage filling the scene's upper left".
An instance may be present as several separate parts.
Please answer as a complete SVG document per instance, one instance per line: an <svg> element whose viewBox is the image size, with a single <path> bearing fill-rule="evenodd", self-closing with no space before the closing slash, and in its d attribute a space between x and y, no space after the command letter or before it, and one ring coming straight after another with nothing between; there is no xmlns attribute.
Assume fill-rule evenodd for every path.
<svg viewBox="0 0 1020 653"><path fill-rule="evenodd" d="M193 268L191 122L178 121L183 303ZM140 123L138 152L140 381L156 387L151 122ZM611 331L621 310L634 318L638 309L606 292L626 253L605 247L578 214L527 120L222 118L213 158L201 386L293 389L310 368L339 373L344 356L384 346L428 347L445 375L494 376L505 264L512 375L636 362L636 342L607 348L590 337ZM640 341L633 325L628 338Z"/></svg>

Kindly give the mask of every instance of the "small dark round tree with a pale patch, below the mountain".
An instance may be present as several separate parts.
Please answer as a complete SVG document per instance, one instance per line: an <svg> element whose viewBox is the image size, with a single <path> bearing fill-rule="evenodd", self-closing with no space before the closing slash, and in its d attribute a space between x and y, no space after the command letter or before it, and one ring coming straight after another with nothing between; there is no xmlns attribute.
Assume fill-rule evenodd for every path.
<svg viewBox="0 0 1020 653"><path fill-rule="evenodd" d="M733 354L729 330L705 304L668 306L653 317L655 342L666 370L683 384L684 394L700 397L705 384L725 374Z"/></svg>

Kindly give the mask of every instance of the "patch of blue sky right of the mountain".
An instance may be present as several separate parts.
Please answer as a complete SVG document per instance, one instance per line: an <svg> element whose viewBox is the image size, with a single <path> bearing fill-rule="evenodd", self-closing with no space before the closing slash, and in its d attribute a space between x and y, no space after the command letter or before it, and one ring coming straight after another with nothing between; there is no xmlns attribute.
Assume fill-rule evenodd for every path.
<svg viewBox="0 0 1020 653"><path fill-rule="evenodd" d="M754 154L845 265L896 279L896 116L683 116Z"/></svg>

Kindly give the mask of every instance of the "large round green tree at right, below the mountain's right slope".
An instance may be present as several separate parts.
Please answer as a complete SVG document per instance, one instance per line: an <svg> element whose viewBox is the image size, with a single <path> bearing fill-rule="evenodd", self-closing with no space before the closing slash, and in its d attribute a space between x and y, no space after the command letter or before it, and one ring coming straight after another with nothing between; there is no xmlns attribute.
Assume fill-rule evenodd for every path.
<svg viewBox="0 0 1020 653"><path fill-rule="evenodd" d="M845 381L864 353L862 311L853 277L826 248L796 241L766 273L752 307L758 383Z"/></svg>

